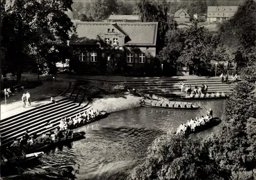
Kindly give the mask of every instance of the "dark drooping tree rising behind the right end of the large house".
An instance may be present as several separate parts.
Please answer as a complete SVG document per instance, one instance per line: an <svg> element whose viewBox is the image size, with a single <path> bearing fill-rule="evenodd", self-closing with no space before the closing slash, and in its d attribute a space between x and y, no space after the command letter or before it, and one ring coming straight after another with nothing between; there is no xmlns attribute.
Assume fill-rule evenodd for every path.
<svg viewBox="0 0 256 180"><path fill-rule="evenodd" d="M138 4L140 18L142 22L158 22L158 50L164 46L164 37L169 29L168 26L168 4L166 1L156 3L149 0L141 0Z"/></svg>

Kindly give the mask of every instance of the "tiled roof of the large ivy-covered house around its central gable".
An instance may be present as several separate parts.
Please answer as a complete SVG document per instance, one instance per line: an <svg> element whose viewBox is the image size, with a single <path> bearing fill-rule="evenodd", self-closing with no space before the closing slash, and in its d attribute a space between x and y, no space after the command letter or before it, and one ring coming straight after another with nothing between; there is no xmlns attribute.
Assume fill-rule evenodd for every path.
<svg viewBox="0 0 256 180"><path fill-rule="evenodd" d="M126 45L156 45L158 22L77 22L70 44L96 43L98 35L111 26L130 37L131 41Z"/></svg>

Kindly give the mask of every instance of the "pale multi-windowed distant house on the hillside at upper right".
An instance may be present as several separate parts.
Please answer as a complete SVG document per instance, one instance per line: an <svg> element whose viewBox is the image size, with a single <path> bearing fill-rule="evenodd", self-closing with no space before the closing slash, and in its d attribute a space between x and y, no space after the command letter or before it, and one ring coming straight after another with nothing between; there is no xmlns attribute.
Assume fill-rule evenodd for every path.
<svg viewBox="0 0 256 180"><path fill-rule="evenodd" d="M208 6L207 21L220 22L234 15L238 10L238 6Z"/></svg>

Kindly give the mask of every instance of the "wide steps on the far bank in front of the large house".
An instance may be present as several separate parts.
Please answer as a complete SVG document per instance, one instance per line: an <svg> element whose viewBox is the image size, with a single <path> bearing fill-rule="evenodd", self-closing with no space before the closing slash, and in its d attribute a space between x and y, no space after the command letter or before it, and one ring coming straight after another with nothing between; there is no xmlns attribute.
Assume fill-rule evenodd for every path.
<svg viewBox="0 0 256 180"><path fill-rule="evenodd" d="M133 87L140 89L141 91L164 95L164 96L180 96L181 85L180 82L185 83L185 89L188 85L191 85L191 88L194 89L195 85L201 87L202 84L208 85L208 93L230 93L233 84L226 84L220 81L220 78L197 78L197 79L184 79L184 80L144 80L144 81L125 81L125 82L114 82L114 84L121 84L127 87ZM184 94L184 93L183 93Z"/></svg>

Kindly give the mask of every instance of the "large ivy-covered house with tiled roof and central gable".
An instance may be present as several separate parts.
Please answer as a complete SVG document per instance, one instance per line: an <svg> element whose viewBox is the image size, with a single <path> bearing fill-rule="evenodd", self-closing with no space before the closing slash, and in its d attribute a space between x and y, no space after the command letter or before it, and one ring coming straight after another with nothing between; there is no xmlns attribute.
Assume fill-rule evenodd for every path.
<svg viewBox="0 0 256 180"><path fill-rule="evenodd" d="M77 22L69 43L79 52L74 69L146 73L156 57L157 29L158 22Z"/></svg>

